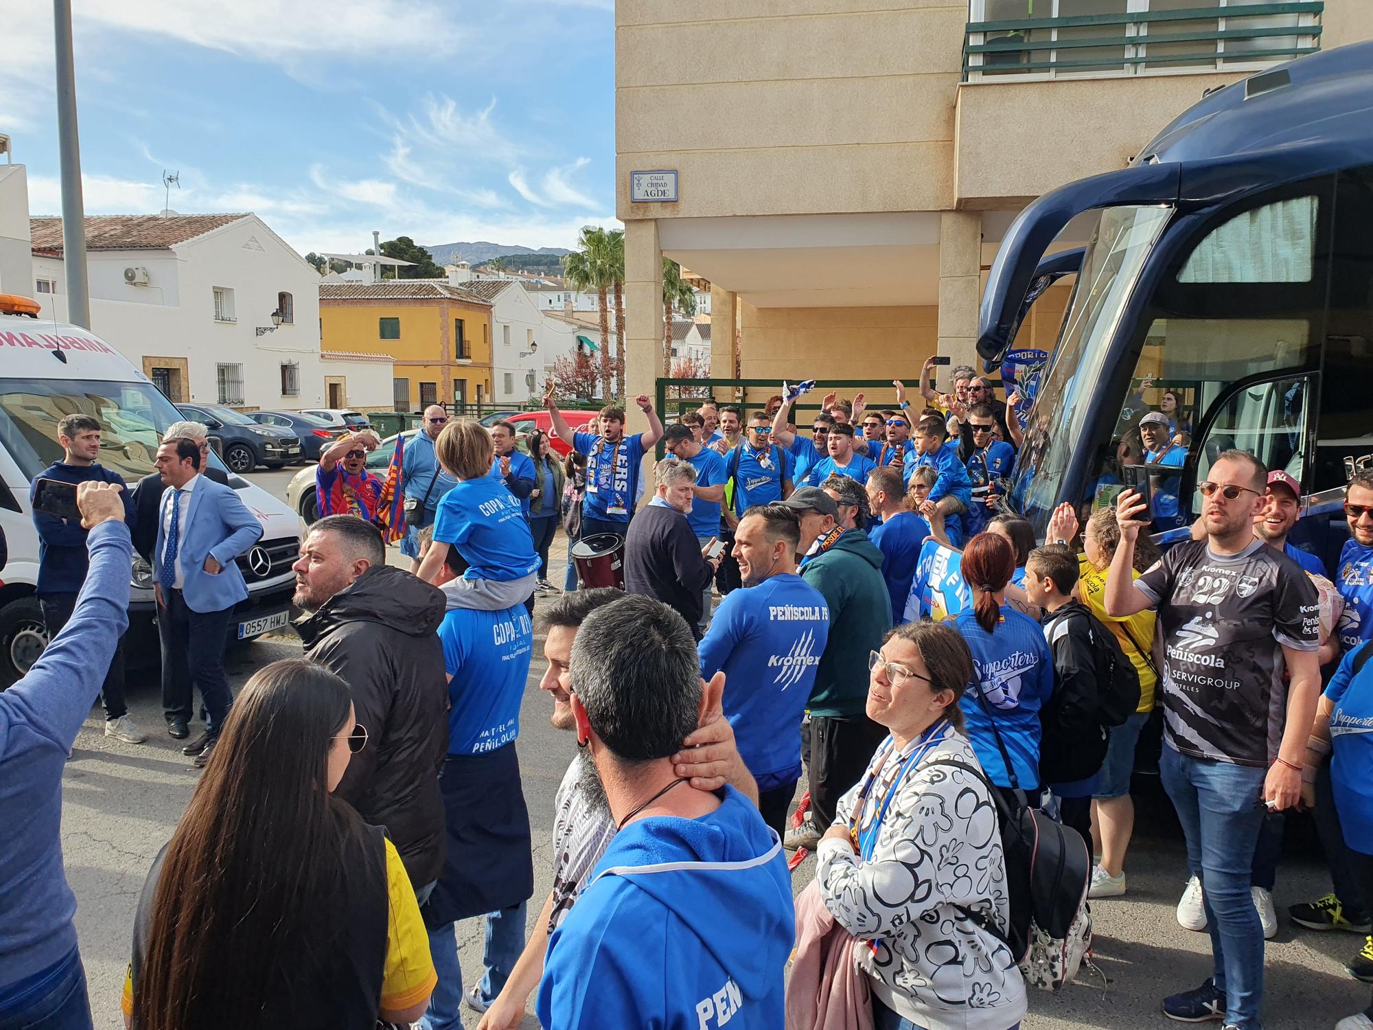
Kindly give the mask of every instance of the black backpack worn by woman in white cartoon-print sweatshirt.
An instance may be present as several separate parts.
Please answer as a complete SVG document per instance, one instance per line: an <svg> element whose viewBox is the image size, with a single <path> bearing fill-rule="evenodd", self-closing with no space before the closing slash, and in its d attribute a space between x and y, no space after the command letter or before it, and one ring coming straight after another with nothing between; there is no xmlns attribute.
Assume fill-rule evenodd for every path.
<svg viewBox="0 0 1373 1030"><path fill-rule="evenodd" d="M1011 777L1009 798L972 766L951 761L943 764L960 765L976 775L997 806L1011 923L1002 934L976 913L968 915L1011 949L1027 983L1059 990L1078 975L1078 967L1092 950L1092 911L1087 908L1092 853L1078 831L1031 808L1001 742L991 707L980 691L978 700L987 713L991 735Z"/></svg>

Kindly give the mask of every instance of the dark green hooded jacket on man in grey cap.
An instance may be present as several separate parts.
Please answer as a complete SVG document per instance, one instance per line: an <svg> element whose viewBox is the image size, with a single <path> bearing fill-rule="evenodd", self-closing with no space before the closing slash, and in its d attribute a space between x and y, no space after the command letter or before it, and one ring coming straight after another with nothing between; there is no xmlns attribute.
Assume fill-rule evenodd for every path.
<svg viewBox="0 0 1373 1030"><path fill-rule="evenodd" d="M825 595L829 641L810 691L811 716L858 716L868 702L868 652L891 629L891 595L881 578L881 551L861 529L800 567L800 577Z"/></svg>

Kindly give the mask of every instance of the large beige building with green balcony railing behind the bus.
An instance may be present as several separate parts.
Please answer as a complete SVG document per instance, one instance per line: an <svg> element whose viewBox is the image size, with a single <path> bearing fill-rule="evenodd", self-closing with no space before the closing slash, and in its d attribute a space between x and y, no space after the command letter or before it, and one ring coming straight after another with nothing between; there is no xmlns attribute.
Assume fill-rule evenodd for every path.
<svg viewBox="0 0 1373 1030"><path fill-rule="evenodd" d="M1369 0L616 0L629 393L660 375L663 255L711 283L717 376L971 363L1032 198L1123 168L1205 91L1370 37ZM1022 346L1052 345L1070 283Z"/></svg>

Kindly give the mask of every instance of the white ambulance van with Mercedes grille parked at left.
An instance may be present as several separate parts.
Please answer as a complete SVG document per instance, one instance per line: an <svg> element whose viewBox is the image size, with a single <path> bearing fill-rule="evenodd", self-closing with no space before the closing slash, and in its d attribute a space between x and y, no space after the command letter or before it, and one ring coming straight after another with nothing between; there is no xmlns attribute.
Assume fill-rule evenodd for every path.
<svg viewBox="0 0 1373 1030"><path fill-rule="evenodd" d="M43 654L48 634L34 596L38 534L29 488L62 457L58 420L92 415L100 422L100 464L133 489L152 471L162 430L181 415L143 372L89 330L32 317L27 298L0 295L0 530L8 562L0 569L0 688ZM210 463L224 470L218 455ZM228 471L228 470L225 470ZM229 485L262 523L262 538L238 559L249 599L229 623L231 640L251 640L290 619L302 523L283 501L228 472ZM135 555L125 654L157 662L152 570Z"/></svg>

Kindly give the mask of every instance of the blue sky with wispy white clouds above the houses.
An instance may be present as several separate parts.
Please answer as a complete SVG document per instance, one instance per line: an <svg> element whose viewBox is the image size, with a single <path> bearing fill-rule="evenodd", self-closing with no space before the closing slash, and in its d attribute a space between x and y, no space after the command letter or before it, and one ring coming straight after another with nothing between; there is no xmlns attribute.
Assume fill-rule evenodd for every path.
<svg viewBox="0 0 1373 1030"><path fill-rule="evenodd" d="M73 0L88 214L257 211L301 253L574 246L614 203L614 0ZM60 210L52 7L0 0L0 132Z"/></svg>

